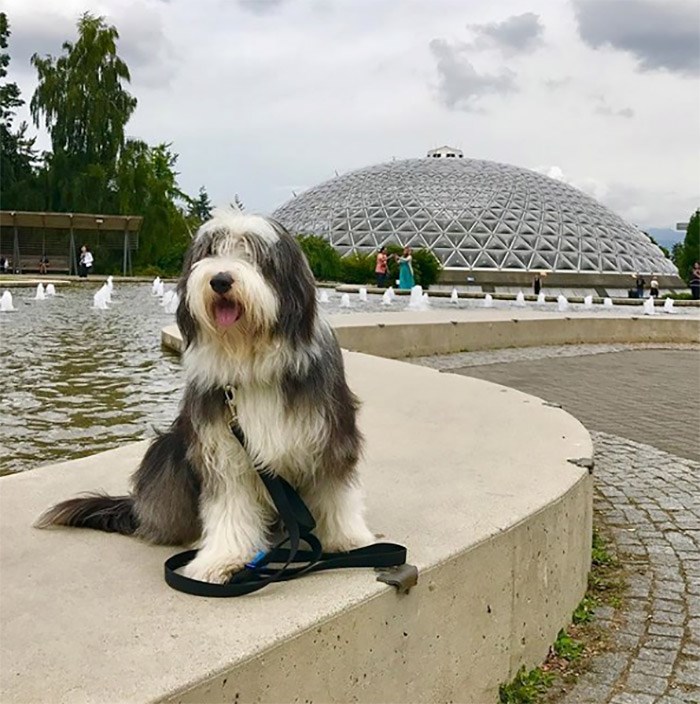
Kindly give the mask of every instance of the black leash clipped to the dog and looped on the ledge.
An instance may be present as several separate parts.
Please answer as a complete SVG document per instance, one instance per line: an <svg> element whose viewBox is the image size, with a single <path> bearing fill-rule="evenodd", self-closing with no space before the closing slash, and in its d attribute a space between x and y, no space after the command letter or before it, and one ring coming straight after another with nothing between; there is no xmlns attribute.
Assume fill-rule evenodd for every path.
<svg viewBox="0 0 700 704"><path fill-rule="evenodd" d="M245 437L235 415L233 390L228 387L226 399L234 421L231 432L245 448ZM194 596L243 596L273 582L341 567L385 568L377 579L404 592L408 592L417 582L418 570L406 564L406 548L403 545L374 543L349 552L323 552L321 542L312 532L316 521L299 494L282 477L271 474L265 467L256 466L255 469L272 498L287 537L271 550L258 553L226 584L200 582L176 571L196 557L196 550L173 555L165 562L165 581L170 587ZM284 547L287 543L289 546ZM300 549L302 543L306 549Z"/></svg>

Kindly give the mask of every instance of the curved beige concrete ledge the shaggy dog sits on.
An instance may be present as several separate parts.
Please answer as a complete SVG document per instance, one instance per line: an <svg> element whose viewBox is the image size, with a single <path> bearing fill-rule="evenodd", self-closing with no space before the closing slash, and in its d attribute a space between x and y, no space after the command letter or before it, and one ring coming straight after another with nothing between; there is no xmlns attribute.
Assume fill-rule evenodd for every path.
<svg viewBox="0 0 700 704"><path fill-rule="evenodd" d="M0 691L8 702L495 702L586 587L586 430L531 396L348 353L364 399L369 522L405 543L407 596L370 570L233 600L168 589L172 549L32 520L121 492L138 443L0 480ZM381 383L378 383L381 380Z"/></svg>

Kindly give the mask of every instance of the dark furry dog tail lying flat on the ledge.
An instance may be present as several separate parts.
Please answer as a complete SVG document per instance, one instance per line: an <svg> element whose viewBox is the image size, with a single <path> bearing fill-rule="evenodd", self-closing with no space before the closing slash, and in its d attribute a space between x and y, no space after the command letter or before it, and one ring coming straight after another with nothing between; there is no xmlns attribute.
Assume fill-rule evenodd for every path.
<svg viewBox="0 0 700 704"><path fill-rule="evenodd" d="M56 504L39 518L35 526L74 526L132 535L138 528L138 520L132 496L88 494Z"/></svg>

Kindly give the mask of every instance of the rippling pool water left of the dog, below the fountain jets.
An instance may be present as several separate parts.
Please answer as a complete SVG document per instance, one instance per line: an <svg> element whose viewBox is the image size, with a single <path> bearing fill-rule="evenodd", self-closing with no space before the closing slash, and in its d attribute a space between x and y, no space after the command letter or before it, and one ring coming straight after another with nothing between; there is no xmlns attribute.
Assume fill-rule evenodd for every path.
<svg viewBox="0 0 700 704"><path fill-rule="evenodd" d="M161 349L164 312L150 284L58 286L34 300L15 289L0 314L0 473L82 457L152 437L175 417L179 356Z"/></svg>

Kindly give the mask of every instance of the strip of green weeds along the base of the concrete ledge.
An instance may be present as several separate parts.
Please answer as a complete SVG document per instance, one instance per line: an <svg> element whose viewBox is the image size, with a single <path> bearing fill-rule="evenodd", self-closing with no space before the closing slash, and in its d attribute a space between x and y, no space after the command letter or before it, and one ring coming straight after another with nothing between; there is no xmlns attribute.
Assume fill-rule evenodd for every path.
<svg viewBox="0 0 700 704"><path fill-rule="evenodd" d="M541 667L522 667L512 682L500 686L501 704L552 701L585 672L594 655L605 650L607 634L595 625L595 610L600 606L619 609L624 592L620 564L608 545L594 529L588 589L571 615L571 624L559 631Z"/></svg>

